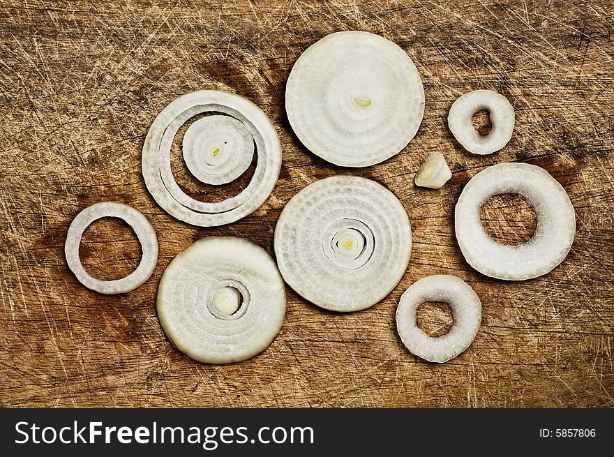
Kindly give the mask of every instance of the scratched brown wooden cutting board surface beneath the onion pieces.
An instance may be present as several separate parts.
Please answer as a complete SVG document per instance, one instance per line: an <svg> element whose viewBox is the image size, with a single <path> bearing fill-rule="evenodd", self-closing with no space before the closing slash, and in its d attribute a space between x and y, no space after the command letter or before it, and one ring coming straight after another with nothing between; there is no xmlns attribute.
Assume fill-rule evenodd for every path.
<svg viewBox="0 0 614 457"><path fill-rule="evenodd" d="M130 3L0 6L0 405L614 405L610 0ZM403 47L426 93L417 137L398 156L364 170L308 153L283 106L285 80L301 52L327 33L350 29ZM226 227L175 220L142 181L151 121L195 89L253 100L274 121L283 146L269 200ZM472 89L500 91L516 109L511 142L491 156L464 152L447 129L451 103ZM433 151L444 154L453 177L441 190L416 188L414 174ZM472 270L454 237L463 186L504 161L546 168L576 209L567 259L521 283ZM181 175L181 163L175 166ZM287 289L280 334L241 364L207 366L174 350L155 309L172 257L216 234L245 237L272 253L274 225L290 197L341 173L375 179L407 209L413 253L394 292L373 308L340 315ZM82 287L63 257L70 221L101 200L142 211L160 241L151 279L114 297ZM534 226L530 207L514 197L490 202L483 216L492 236L507 243L527 239ZM126 225L103 220L87 230L81 254L92 274L109 279L133 269L140 248ZM412 356L394 327L400 294L430 274L467 280L484 307L472 346L443 365ZM426 308L420 318L428 331L449 327L441 305Z"/></svg>

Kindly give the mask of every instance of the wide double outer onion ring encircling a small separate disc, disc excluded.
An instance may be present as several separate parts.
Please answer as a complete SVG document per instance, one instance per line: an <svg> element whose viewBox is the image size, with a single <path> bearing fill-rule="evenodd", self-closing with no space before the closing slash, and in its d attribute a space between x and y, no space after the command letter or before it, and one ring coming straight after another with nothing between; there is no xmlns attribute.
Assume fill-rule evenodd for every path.
<svg viewBox="0 0 614 457"><path fill-rule="evenodd" d="M209 112L223 113L243 123L253 137L258 157L248 186L219 203L200 202L186 195L174 180L170 166L171 144L179 128L197 114ZM191 135L198 136L195 130L190 131ZM194 147L188 153L197 150ZM241 151L249 153L250 149ZM280 169L281 146L273 124L259 107L229 92L195 91L172 101L151 124L143 145L143 178L153 198L171 216L202 227L232 223L253 213L271 194Z"/></svg>

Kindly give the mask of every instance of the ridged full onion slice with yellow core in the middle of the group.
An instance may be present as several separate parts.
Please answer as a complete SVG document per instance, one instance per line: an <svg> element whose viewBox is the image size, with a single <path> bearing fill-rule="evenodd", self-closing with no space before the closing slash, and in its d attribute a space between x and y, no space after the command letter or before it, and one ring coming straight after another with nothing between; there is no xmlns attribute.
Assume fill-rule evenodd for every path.
<svg viewBox="0 0 614 457"><path fill-rule="evenodd" d="M410 261L412 230L387 188L339 176L292 197L274 245L281 275L301 297L328 310L356 311L398 284Z"/></svg>

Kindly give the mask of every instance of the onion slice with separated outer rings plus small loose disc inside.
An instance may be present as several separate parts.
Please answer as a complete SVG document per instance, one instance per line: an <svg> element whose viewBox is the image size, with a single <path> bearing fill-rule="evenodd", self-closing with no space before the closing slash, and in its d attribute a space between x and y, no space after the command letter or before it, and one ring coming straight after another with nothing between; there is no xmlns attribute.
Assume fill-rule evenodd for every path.
<svg viewBox="0 0 614 457"><path fill-rule="evenodd" d="M177 131L202 113L216 115L193 122L183 142L186 165L197 179L211 184L230 182L249 166L254 144L257 150L257 165L248 186L219 203L186 195L170 166ZM259 107L234 93L195 91L177 98L158 114L143 145L142 172L153 198L172 216L203 227L231 223L253 213L271 194L280 168L281 147L273 124Z"/></svg>

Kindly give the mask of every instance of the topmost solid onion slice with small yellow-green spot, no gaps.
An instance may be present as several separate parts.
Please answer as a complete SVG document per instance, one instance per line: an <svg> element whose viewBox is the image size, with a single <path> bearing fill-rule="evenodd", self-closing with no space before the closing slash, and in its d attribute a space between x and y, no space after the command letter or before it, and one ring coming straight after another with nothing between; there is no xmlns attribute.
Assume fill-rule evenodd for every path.
<svg viewBox="0 0 614 457"><path fill-rule="evenodd" d="M401 151L424 114L412 59L362 31L332 33L294 63L285 106L299 140L336 165L366 167Z"/></svg>

